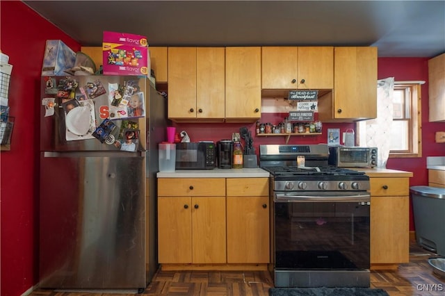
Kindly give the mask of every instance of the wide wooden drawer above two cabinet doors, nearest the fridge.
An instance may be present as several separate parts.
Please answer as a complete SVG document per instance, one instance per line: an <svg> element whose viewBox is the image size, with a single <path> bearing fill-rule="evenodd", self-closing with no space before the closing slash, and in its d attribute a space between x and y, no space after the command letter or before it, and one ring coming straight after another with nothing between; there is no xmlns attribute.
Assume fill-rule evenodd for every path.
<svg viewBox="0 0 445 296"><path fill-rule="evenodd" d="M224 178L158 179L158 196L225 196Z"/></svg>

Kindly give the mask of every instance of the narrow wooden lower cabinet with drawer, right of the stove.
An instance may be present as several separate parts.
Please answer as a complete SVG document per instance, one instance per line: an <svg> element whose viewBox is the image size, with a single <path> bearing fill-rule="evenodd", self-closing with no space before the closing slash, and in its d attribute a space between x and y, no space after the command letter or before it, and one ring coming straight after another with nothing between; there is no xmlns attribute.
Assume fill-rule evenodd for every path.
<svg viewBox="0 0 445 296"><path fill-rule="evenodd" d="M409 178L371 178L371 268L410 261Z"/></svg>

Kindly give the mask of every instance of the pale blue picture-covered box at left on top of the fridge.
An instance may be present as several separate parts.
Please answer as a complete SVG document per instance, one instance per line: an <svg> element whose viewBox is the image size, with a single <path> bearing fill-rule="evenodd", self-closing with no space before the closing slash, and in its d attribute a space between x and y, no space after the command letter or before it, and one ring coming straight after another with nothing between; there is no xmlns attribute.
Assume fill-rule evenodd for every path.
<svg viewBox="0 0 445 296"><path fill-rule="evenodd" d="M66 69L74 67L76 53L61 40L47 40L44 50L42 76L66 76Z"/></svg>

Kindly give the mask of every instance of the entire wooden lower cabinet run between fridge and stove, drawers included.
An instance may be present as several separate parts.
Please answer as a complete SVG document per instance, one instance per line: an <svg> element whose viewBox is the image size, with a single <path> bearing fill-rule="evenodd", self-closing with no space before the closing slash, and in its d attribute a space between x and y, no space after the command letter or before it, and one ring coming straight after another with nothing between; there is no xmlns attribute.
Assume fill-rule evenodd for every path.
<svg viewBox="0 0 445 296"><path fill-rule="evenodd" d="M159 263L266 268L268 185L268 178L158 179Z"/></svg>

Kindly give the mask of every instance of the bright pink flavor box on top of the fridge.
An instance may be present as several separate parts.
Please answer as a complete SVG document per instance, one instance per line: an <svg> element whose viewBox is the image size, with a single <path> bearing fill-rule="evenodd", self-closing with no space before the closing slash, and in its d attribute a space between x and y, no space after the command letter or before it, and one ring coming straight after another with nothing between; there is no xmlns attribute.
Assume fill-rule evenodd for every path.
<svg viewBox="0 0 445 296"><path fill-rule="evenodd" d="M104 31L103 71L106 75L148 75L147 38L141 35Z"/></svg>

